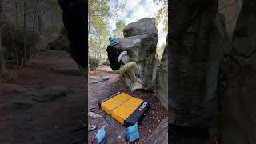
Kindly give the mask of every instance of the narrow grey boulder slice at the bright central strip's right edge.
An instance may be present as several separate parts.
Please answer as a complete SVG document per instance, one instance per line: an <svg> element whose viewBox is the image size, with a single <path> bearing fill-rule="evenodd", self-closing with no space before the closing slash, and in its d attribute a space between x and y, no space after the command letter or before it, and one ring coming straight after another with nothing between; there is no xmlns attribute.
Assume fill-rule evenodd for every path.
<svg viewBox="0 0 256 144"><path fill-rule="evenodd" d="M166 110L168 110L168 46L167 36L166 47L156 75L156 93Z"/></svg>

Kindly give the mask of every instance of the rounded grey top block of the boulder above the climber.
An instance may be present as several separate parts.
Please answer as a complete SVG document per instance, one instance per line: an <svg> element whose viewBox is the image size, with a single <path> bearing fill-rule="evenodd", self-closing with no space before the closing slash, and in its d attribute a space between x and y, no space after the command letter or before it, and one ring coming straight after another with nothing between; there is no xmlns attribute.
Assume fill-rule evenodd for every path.
<svg viewBox="0 0 256 144"><path fill-rule="evenodd" d="M157 34L155 18L142 18L137 22L128 24L123 30L124 37L131 37L142 34Z"/></svg>

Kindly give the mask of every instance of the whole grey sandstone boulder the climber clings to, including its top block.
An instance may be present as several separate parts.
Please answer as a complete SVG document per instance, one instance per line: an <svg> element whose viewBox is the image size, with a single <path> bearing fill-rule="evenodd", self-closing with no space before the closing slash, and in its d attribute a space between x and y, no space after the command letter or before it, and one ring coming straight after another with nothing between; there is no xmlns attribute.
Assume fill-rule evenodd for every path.
<svg viewBox="0 0 256 144"><path fill-rule="evenodd" d="M145 90L153 90L155 86L158 66L158 59L156 58L157 31L154 18L142 18L126 26L124 29L125 38L119 39L122 50L128 52L129 62L138 64L141 79L145 83L143 88ZM130 86L128 81L126 79L127 85Z"/></svg>

